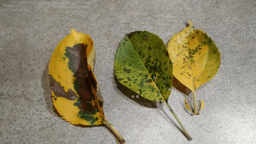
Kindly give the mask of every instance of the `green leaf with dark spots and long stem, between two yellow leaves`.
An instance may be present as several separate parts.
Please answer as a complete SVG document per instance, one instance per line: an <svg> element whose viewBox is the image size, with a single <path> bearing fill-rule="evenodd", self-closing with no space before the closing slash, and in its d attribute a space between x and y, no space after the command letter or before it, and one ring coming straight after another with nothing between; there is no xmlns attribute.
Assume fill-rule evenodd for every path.
<svg viewBox="0 0 256 144"><path fill-rule="evenodd" d="M172 86L172 63L162 39L147 31L136 31L122 39L115 55L118 81L151 101L164 101L180 123L167 100Z"/></svg>

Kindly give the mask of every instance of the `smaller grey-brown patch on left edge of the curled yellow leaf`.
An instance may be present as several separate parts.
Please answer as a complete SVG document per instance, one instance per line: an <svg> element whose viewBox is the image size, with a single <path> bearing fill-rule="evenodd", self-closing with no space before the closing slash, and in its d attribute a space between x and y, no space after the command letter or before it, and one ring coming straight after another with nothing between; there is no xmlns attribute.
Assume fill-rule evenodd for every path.
<svg viewBox="0 0 256 144"><path fill-rule="evenodd" d="M50 75L50 87L52 91L54 92L56 97L64 97L68 100L75 100L78 97L76 96L76 93L72 89L68 89L68 93L64 91L62 86L60 85L60 82L57 82L52 75Z"/></svg>

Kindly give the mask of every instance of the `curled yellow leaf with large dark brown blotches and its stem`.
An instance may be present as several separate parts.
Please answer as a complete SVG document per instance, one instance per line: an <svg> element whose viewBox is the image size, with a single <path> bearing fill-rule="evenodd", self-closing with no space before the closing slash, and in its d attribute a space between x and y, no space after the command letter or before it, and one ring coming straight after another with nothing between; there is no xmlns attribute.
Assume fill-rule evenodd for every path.
<svg viewBox="0 0 256 144"><path fill-rule="evenodd" d="M71 28L71 34L57 45L49 63L53 105L70 124L106 124L124 143L122 136L105 119L94 62L93 40Z"/></svg>

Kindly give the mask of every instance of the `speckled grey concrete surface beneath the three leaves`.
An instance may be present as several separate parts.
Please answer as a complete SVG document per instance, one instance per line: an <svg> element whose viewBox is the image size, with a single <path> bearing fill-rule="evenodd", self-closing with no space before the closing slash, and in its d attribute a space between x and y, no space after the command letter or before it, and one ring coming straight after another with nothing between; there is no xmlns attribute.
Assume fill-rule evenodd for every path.
<svg viewBox="0 0 256 144"><path fill-rule="evenodd" d="M105 117L126 144L255 143L255 13L254 0L1 0L0 143L116 143L106 127L74 126L54 112L48 62L71 27L94 41ZM113 72L126 33L146 30L168 43L188 19L221 52L219 72L196 91L205 102L200 115L191 117L186 95L171 91L169 104L190 142L166 105L118 88Z"/></svg>

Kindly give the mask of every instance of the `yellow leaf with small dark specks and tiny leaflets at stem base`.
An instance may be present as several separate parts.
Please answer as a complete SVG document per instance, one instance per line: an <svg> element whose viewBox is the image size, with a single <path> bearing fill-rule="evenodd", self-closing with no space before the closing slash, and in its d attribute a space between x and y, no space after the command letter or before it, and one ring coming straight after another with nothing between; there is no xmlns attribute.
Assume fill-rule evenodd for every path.
<svg viewBox="0 0 256 144"><path fill-rule="evenodd" d="M194 112L188 110L193 115L199 114L195 91L219 70L221 55L218 47L204 31L195 30L189 20L189 26L171 38L168 52L173 63L173 75L193 92Z"/></svg>

